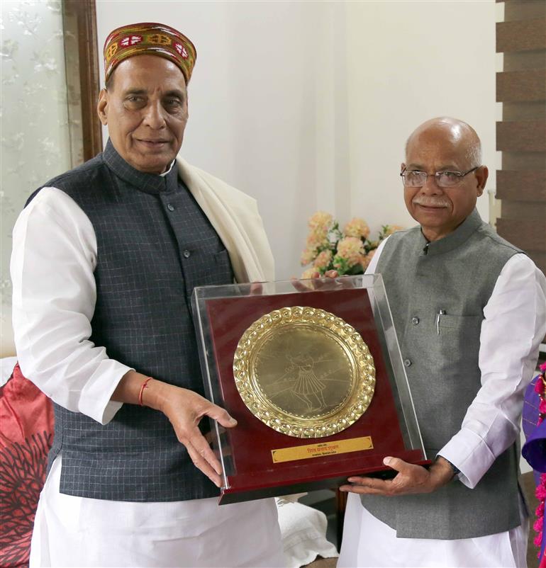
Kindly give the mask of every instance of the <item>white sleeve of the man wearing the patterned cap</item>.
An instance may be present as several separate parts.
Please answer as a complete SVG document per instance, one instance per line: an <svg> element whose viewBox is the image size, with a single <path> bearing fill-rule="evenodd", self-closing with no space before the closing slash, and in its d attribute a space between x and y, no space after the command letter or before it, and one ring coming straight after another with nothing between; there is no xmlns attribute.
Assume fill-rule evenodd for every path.
<svg viewBox="0 0 546 568"><path fill-rule="evenodd" d="M89 341L96 302L96 237L87 215L43 188L13 229L13 334L23 375L68 410L107 424L127 365Z"/></svg>

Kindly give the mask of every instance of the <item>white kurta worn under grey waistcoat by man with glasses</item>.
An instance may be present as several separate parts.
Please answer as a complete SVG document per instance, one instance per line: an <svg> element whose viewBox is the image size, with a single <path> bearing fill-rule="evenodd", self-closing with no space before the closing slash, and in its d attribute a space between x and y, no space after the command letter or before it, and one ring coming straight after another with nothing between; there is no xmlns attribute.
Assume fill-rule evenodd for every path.
<svg viewBox="0 0 546 568"><path fill-rule="evenodd" d="M375 271L383 247L367 273ZM516 254L503 266L484 317L481 387L461 429L438 452L461 470L459 481L470 488L519 436L523 392L546 333L546 278L528 256ZM522 510L522 526L505 533L459 540L397 538L396 530L350 494L338 567L521 567L526 565L527 525Z"/></svg>

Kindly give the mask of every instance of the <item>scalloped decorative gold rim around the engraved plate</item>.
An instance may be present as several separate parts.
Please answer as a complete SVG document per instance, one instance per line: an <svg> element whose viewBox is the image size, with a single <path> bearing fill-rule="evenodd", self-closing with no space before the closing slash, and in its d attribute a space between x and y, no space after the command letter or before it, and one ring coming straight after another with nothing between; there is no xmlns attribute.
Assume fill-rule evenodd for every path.
<svg viewBox="0 0 546 568"><path fill-rule="evenodd" d="M323 415L291 414L274 404L257 380L260 347L272 333L294 326L308 327L333 339L350 361L351 388L342 403ZM374 359L358 331L323 309L296 306L275 309L257 319L241 336L233 358L235 385L247 408L277 432L296 438L323 438L354 424L372 402L375 387Z"/></svg>

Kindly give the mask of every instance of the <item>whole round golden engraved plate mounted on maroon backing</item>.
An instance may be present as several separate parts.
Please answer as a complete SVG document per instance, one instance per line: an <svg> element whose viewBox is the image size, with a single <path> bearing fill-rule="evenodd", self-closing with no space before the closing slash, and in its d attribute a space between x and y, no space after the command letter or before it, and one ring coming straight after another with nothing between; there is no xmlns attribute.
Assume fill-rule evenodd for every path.
<svg viewBox="0 0 546 568"><path fill-rule="evenodd" d="M322 438L369 407L375 367L357 330L313 307L284 307L257 319L239 340L233 376L247 408L274 430Z"/></svg>

